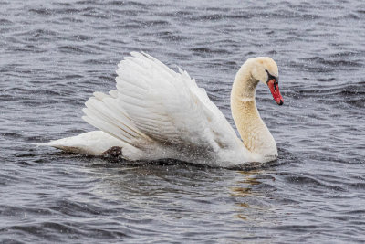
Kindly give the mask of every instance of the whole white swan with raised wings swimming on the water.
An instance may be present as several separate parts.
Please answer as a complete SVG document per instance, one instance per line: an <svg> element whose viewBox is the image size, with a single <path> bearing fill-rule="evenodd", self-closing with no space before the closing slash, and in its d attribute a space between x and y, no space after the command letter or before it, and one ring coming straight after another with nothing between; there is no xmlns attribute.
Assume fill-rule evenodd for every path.
<svg viewBox="0 0 365 244"><path fill-rule="evenodd" d="M94 92L83 109L82 119L99 131L39 144L130 161L176 159L218 167L276 159L276 142L255 105L260 81L283 104L272 58L249 58L235 75L231 111L242 140L183 69L175 72L157 58L132 52L117 74L117 90Z"/></svg>

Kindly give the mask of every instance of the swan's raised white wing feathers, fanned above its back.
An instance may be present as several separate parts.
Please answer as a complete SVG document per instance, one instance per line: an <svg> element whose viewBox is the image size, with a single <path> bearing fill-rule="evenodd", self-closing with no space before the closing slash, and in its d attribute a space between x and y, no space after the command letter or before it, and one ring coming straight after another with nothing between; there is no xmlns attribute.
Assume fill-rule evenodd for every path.
<svg viewBox="0 0 365 244"><path fill-rule="evenodd" d="M141 147L147 141L209 151L233 149L240 140L205 90L182 69L169 69L145 53L131 53L117 69L118 91L96 94L84 119Z"/></svg>

